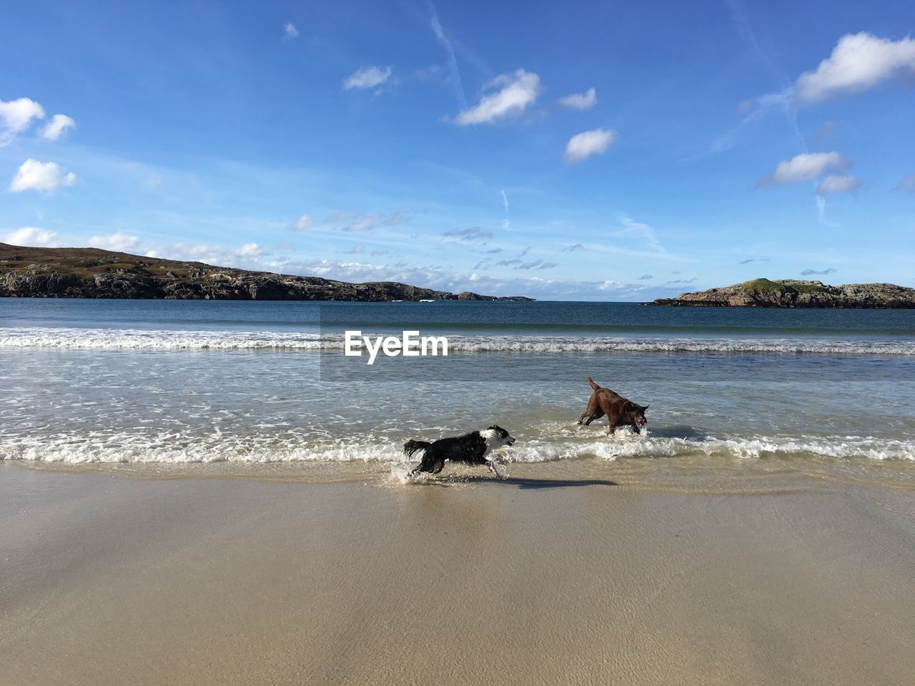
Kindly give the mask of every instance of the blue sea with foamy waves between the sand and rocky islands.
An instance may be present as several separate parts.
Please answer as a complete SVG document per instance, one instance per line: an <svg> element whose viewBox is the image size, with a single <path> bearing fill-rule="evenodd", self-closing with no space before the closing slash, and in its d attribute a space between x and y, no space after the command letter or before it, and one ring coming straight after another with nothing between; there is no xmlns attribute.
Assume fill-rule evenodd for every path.
<svg viewBox="0 0 915 686"><path fill-rule="evenodd" d="M447 356L344 354L404 330ZM588 376L641 434L576 423ZM2 463L402 485L406 440L492 424L532 488L915 489L915 310L0 298Z"/></svg>

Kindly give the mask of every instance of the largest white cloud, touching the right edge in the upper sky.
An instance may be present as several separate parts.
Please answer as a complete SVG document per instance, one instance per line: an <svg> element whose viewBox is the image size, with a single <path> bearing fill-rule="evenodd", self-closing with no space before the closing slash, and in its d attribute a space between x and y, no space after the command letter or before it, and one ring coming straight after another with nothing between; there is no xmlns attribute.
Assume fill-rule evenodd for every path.
<svg viewBox="0 0 915 686"><path fill-rule="evenodd" d="M915 39L887 40L862 32L839 38L833 54L794 84L798 104L813 105L873 88L909 72L915 75Z"/></svg>

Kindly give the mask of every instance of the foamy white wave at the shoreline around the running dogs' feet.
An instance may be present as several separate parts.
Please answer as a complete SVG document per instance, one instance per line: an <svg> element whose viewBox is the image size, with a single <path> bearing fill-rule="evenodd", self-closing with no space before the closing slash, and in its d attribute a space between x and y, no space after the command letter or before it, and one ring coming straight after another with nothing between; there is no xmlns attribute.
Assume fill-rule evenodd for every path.
<svg viewBox="0 0 915 686"><path fill-rule="evenodd" d="M682 438L618 433L596 438L575 429L519 440L503 453L508 462L542 463L599 458L707 456L726 458L819 457L915 461L915 440L874 436L711 436ZM358 441L278 440L274 435L229 436L215 432L137 434L91 432L0 441L0 461L27 460L68 465L98 463L378 463L404 465L400 445L380 436Z"/></svg>

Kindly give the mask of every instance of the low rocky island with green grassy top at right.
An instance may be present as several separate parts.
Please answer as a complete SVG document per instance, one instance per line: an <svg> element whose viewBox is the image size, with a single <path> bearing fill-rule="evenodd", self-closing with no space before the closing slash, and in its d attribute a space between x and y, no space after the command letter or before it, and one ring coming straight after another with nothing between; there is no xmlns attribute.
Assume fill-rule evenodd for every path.
<svg viewBox="0 0 915 686"><path fill-rule="evenodd" d="M915 288L895 284L826 285L819 281L755 279L701 293L658 298L648 305L692 307L915 308Z"/></svg>

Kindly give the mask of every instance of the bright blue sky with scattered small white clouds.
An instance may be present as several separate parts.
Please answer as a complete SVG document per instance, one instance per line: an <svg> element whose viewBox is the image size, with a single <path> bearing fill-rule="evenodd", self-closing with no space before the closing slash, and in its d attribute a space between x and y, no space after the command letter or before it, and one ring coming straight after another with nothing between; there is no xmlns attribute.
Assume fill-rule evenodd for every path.
<svg viewBox="0 0 915 686"><path fill-rule="evenodd" d="M0 22L0 241L642 301L915 286L915 4L84 2Z"/></svg>

